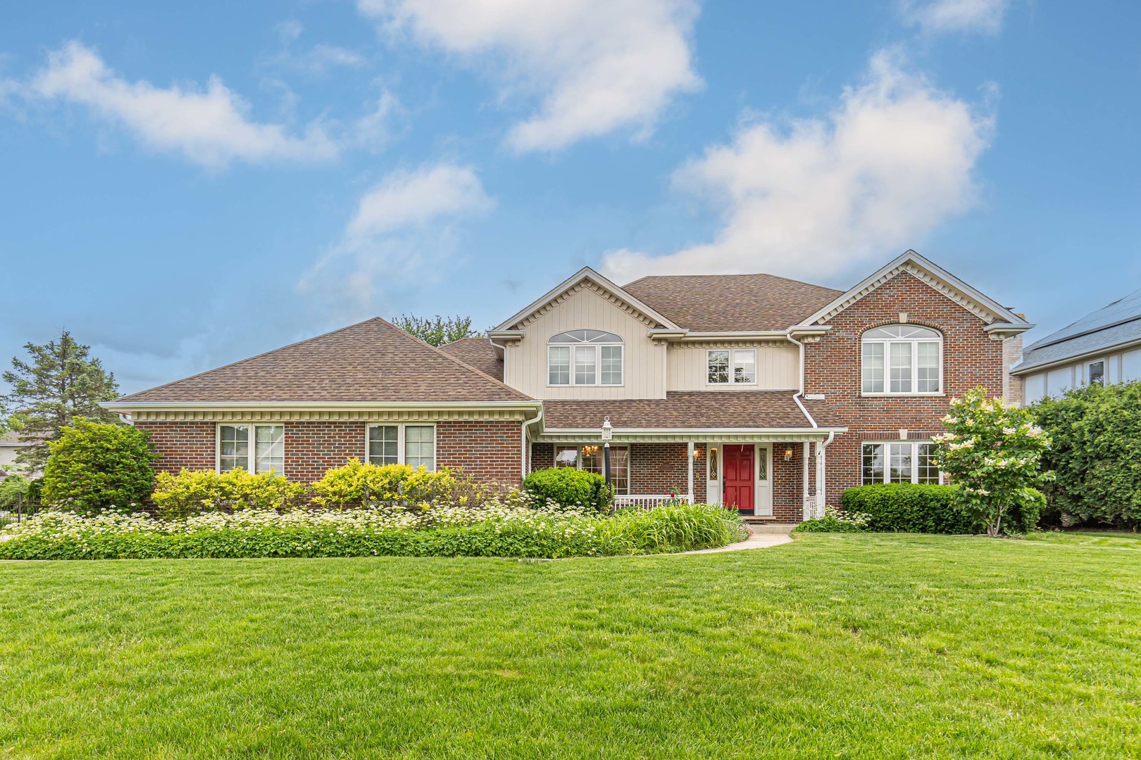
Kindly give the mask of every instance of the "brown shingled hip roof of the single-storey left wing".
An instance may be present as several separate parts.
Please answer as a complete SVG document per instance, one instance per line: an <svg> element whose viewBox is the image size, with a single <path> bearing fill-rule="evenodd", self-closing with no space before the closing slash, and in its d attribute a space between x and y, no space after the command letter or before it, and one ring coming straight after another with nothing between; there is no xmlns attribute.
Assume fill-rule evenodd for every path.
<svg viewBox="0 0 1141 760"><path fill-rule="evenodd" d="M119 399L521 401L528 397L374 318Z"/></svg>

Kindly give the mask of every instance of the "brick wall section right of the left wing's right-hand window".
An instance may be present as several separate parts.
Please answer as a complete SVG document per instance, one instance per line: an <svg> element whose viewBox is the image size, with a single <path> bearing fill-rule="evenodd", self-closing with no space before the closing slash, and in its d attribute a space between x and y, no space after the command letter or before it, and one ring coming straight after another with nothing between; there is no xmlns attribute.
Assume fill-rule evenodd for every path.
<svg viewBox="0 0 1141 760"><path fill-rule="evenodd" d="M436 423L436 461L462 467L479 480L518 485L523 467L523 425L509 420Z"/></svg>

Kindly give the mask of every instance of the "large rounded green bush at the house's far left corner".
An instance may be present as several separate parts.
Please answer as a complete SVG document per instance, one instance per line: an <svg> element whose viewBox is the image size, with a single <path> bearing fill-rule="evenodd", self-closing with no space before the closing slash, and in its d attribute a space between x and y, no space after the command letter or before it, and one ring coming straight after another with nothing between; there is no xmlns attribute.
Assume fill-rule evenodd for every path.
<svg viewBox="0 0 1141 760"><path fill-rule="evenodd" d="M159 458L151 433L130 425L75 419L48 443L43 498L81 514L144 504L154 488L151 464Z"/></svg>

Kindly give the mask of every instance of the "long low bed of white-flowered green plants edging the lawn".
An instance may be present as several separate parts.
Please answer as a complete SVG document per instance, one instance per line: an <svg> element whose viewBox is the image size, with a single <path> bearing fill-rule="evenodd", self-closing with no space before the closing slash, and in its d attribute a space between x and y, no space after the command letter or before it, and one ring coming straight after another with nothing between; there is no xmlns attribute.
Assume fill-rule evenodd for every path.
<svg viewBox="0 0 1141 760"><path fill-rule="evenodd" d="M739 516L685 505L606 516L492 501L479 508L244 509L154 520L41 513L0 536L0 559L652 554L743 538Z"/></svg>

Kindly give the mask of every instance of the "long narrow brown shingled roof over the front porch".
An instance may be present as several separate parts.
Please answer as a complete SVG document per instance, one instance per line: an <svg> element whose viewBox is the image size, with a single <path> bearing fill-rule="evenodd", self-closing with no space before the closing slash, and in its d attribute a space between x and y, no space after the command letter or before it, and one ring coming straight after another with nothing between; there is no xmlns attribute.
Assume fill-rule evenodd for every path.
<svg viewBox="0 0 1141 760"><path fill-rule="evenodd" d="M592 430L610 418L622 427L811 427L792 391L670 391L663 399L544 401L548 430ZM808 406L808 402L806 402ZM817 425L827 409L809 407Z"/></svg>

